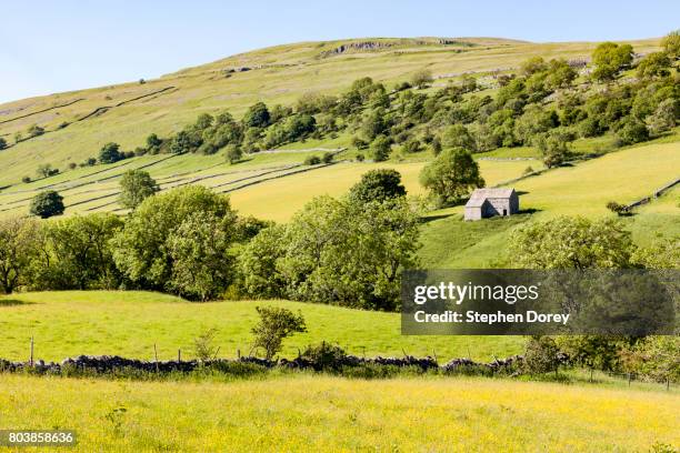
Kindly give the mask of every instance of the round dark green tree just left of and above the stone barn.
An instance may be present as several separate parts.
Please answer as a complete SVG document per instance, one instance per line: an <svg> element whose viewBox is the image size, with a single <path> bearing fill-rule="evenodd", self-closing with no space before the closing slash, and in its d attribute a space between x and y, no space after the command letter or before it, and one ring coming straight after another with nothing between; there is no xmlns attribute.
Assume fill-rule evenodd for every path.
<svg viewBox="0 0 680 453"><path fill-rule="evenodd" d="M422 169L420 183L441 203L454 203L472 189L483 187L484 180L472 154L462 148L450 148Z"/></svg>

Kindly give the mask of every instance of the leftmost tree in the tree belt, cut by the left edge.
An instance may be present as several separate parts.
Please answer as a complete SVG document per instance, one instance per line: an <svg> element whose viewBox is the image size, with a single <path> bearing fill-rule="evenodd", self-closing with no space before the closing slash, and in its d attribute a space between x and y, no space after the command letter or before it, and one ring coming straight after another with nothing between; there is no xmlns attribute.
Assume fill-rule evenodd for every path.
<svg viewBox="0 0 680 453"><path fill-rule="evenodd" d="M6 294L30 282L39 228L32 219L0 219L0 290Z"/></svg>

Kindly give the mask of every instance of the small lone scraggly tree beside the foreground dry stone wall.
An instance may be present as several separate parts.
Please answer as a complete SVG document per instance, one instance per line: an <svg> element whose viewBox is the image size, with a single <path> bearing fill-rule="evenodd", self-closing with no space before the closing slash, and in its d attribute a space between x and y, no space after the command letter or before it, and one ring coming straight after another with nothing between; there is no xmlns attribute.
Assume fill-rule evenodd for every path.
<svg viewBox="0 0 680 453"><path fill-rule="evenodd" d="M301 312L298 314L279 306L256 306L260 321L252 328L253 349L262 348L264 358L272 360L281 351L283 340L298 332L307 332Z"/></svg>

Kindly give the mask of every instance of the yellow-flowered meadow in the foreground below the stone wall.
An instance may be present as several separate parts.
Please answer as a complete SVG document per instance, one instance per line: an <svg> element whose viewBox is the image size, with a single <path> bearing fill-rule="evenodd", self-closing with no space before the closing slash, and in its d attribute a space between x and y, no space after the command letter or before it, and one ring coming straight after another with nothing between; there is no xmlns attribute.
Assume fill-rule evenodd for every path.
<svg viewBox="0 0 680 453"><path fill-rule="evenodd" d="M76 430L79 452L646 452L680 443L679 405L666 391L490 379L0 375L0 429Z"/></svg>

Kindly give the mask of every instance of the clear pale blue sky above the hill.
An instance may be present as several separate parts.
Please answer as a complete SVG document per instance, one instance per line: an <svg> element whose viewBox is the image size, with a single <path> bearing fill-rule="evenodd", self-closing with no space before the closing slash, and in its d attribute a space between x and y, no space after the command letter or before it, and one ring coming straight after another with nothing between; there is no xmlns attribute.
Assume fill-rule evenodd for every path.
<svg viewBox="0 0 680 453"><path fill-rule="evenodd" d="M261 47L356 37L622 40L680 27L678 0L0 0L0 102L154 78Z"/></svg>

